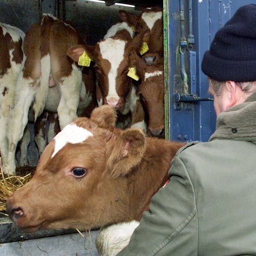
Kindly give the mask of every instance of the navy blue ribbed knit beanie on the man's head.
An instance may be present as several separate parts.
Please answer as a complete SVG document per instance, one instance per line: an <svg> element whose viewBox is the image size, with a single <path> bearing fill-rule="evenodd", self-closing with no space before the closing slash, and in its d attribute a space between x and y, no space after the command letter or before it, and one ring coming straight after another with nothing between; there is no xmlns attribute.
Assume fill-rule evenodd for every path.
<svg viewBox="0 0 256 256"><path fill-rule="evenodd" d="M256 81L256 4L240 7L218 30L202 70L218 81Z"/></svg>

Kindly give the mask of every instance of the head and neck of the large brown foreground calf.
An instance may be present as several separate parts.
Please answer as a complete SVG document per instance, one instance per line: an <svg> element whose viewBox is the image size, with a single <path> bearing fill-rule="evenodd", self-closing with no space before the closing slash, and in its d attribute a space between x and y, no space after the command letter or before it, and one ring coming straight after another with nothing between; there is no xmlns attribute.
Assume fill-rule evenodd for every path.
<svg viewBox="0 0 256 256"><path fill-rule="evenodd" d="M183 143L121 130L115 121L104 105L58 133L32 180L8 198L12 221L26 231L139 221Z"/></svg>

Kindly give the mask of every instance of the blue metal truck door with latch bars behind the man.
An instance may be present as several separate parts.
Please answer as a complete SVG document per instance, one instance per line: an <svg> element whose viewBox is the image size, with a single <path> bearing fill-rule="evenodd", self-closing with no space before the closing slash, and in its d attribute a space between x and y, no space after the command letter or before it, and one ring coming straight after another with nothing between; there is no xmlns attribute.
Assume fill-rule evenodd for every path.
<svg viewBox="0 0 256 256"><path fill-rule="evenodd" d="M204 52L236 10L256 0L164 0L166 137L207 141L216 116Z"/></svg>

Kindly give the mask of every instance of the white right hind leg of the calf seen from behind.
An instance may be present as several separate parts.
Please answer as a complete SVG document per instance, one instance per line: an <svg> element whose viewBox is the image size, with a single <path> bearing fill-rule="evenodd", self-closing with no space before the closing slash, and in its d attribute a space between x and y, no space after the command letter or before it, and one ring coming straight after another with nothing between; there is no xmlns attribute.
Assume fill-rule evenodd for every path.
<svg viewBox="0 0 256 256"><path fill-rule="evenodd" d="M58 105L61 129L77 118L76 111L79 104L82 74L75 64L72 65L72 68L73 70L70 76L65 77L62 82L58 81L61 85L61 100Z"/></svg>

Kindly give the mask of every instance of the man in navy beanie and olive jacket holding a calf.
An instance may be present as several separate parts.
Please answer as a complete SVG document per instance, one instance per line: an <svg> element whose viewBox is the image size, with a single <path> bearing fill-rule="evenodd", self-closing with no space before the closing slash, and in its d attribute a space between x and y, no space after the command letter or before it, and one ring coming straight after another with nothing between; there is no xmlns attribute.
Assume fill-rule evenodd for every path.
<svg viewBox="0 0 256 256"><path fill-rule="evenodd" d="M216 131L185 145L118 256L256 255L256 5L215 35L202 70Z"/></svg>

